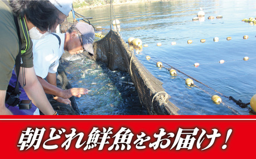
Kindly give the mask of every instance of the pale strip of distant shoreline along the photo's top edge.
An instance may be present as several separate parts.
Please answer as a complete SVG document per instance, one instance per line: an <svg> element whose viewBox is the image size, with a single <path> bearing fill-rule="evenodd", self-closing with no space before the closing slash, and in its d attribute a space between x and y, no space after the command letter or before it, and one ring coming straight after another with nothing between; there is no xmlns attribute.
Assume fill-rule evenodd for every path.
<svg viewBox="0 0 256 159"><path fill-rule="evenodd" d="M174 0L113 0L113 6L119 6L119 5L128 5L128 4L134 4L134 3L151 3L151 2L167 2L167 1L174 1ZM95 2L92 4L89 4L86 1L81 0L74 0L73 1L73 7L75 10L81 10L81 9L96 9L96 8L103 8L103 7L109 7L110 3L106 3L105 1L102 2Z"/></svg>

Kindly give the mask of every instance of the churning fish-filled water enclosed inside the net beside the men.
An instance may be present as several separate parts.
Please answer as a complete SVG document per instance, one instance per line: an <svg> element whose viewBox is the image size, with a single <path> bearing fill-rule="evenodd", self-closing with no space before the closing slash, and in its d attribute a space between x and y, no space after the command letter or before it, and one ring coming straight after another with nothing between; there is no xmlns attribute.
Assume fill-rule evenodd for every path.
<svg viewBox="0 0 256 159"><path fill-rule="evenodd" d="M127 72L112 71L104 63L71 56L63 62L72 87L88 89L76 98L81 115L147 115Z"/></svg>

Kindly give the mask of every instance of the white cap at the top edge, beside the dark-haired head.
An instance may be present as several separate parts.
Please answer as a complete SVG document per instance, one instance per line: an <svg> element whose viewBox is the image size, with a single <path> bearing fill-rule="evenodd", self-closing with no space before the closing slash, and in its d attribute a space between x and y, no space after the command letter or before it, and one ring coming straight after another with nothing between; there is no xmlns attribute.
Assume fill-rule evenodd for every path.
<svg viewBox="0 0 256 159"><path fill-rule="evenodd" d="M69 11L72 10L72 2L73 0L49 0L59 11L63 14L69 14Z"/></svg>

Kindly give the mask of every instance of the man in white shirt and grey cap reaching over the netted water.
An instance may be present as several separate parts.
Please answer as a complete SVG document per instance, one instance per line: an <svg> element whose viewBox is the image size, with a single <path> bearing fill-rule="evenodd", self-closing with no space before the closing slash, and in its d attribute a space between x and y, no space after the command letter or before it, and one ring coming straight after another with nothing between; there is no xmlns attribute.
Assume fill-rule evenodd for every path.
<svg viewBox="0 0 256 159"><path fill-rule="evenodd" d="M70 105L71 101L68 98L72 96L81 97L81 94L88 94L88 89L84 88L63 90L57 87L56 72L59 66L59 59L64 51L75 55L85 50L93 55L94 28L92 25L79 22L71 26L66 33L50 34L44 39L32 41L34 43L35 73L45 93L55 96L53 99L57 102Z"/></svg>

